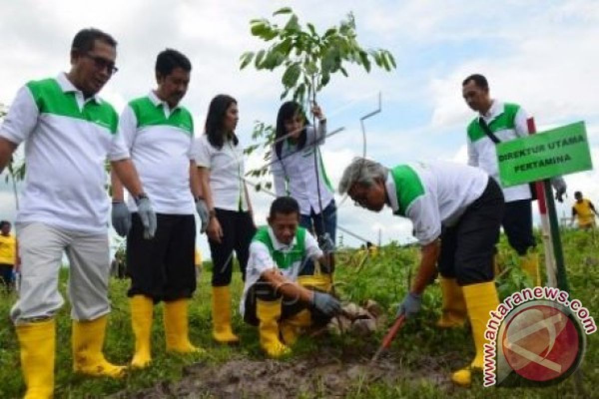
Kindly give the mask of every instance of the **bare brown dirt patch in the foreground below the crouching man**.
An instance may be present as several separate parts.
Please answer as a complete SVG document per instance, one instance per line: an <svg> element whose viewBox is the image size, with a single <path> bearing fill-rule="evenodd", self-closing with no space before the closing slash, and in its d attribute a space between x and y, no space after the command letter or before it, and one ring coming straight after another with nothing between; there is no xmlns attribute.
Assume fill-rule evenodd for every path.
<svg viewBox="0 0 599 399"><path fill-rule="evenodd" d="M196 363L183 370L183 379L158 383L135 394L122 392L113 398L296 398L344 397L362 392L374 382L388 384L403 380L419 383L425 379L440 389L451 386L434 358L422 364L400 366L391 356L380 358L373 367L368 358L343 361L338 358L299 358L289 361L234 359L217 366Z"/></svg>

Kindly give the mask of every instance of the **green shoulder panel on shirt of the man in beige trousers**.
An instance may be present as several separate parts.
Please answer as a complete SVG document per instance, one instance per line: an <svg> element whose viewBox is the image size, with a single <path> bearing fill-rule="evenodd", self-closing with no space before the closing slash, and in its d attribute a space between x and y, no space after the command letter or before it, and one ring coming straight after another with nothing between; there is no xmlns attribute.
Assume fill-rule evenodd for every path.
<svg viewBox="0 0 599 399"><path fill-rule="evenodd" d="M31 81L26 85L34 98L40 114L76 118L105 127L116 134L119 115L104 100L89 100L79 109L74 92L65 93L55 78Z"/></svg>

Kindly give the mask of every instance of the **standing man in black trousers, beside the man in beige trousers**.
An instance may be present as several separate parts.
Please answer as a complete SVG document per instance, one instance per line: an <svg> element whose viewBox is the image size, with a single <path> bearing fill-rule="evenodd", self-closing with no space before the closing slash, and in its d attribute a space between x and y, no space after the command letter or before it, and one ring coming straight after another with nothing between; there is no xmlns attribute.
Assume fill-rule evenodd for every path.
<svg viewBox="0 0 599 399"><path fill-rule="evenodd" d="M119 125L157 213L152 240L144 239L135 203L130 200L127 208L123 188L113 176L113 225L122 236L128 234L134 367L146 367L152 360L153 304L159 301L164 301L167 350L198 351L187 337L187 303L196 288L194 198L202 232L208 223L208 210L198 199L197 167L191 160L193 118L179 105L187 92L191 63L184 54L167 48L158 54L155 69L158 89L129 102ZM131 230L129 211L133 212Z"/></svg>

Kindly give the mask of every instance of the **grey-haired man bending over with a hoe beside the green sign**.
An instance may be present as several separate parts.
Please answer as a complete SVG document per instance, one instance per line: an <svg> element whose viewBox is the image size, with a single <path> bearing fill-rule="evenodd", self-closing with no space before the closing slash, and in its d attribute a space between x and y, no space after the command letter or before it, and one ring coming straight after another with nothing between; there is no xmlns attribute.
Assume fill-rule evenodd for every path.
<svg viewBox="0 0 599 399"><path fill-rule="evenodd" d="M380 212L387 205L394 215L412 221L422 257L398 316L412 316L420 310L422 291L434 276L435 264L443 278L453 278L461 287L476 356L470 366L453 373L452 380L469 385L471 371L482 370L486 322L489 312L499 305L493 255L504 199L497 182L476 167L454 163L388 169L356 158L343 172L339 191L370 211Z"/></svg>

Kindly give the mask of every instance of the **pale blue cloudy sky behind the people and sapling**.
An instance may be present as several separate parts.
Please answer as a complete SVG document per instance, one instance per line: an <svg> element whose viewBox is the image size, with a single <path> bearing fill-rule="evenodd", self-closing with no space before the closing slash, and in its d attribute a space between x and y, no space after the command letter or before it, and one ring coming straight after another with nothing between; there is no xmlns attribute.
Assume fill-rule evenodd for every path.
<svg viewBox="0 0 599 399"><path fill-rule="evenodd" d="M171 47L193 65L185 105L196 126L204 123L214 95L238 100L237 135L252 144L256 120L274 123L282 92L281 72L239 69L239 57L265 44L249 31L251 19L271 18L291 6L300 23L324 32L347 13L355 15L358 41L394 54L397 69L370 74L350 66L349 77L334 76L319 93L329 129L344 127L321 151L332 184L357 155L394 166L415 160L466 162L465 127L475 115L461 97L461 82L484 74L493 98L521 104L537 130L584 120L594 165L599 165L599 4L594 0L549 1L156 1L131 0L2 2L0 5L0 103L10 105L29 80L68 71L72 37L89 26L111 33L119 42L114 75L100 95L121 111L128 100L155 87L156 54ZM286 16L276 17L279 23ZM359 118L378 107L366 122ZM261 165L255 154L246 169ZM0 176L0 218L14 220L11 186ZM565 176L568 193L558 206L570 213L573 192L599 203L599 172ZM272 198L252 192L256 224L264 224ZM355 208L337 196L338 225L363 239L411 242L409 221ZM537 214L537 212L535 211ZM538 217L536 216L536 220ZM344 245L361 241L343 234ZM207 255L205 235L198 247Z"/></svg>

